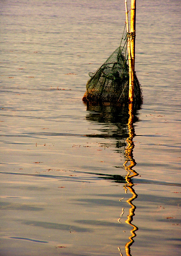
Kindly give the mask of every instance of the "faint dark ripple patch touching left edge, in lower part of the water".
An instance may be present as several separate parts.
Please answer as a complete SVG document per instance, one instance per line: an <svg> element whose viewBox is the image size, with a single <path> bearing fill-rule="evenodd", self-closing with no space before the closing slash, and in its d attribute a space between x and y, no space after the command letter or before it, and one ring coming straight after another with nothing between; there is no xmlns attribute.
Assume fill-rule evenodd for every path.
<svg viewBox="0 0 181 256"><path fill-rule="evenodd" d="M43 211L43 208L26 204L0 202L1 210Z"/></svg>

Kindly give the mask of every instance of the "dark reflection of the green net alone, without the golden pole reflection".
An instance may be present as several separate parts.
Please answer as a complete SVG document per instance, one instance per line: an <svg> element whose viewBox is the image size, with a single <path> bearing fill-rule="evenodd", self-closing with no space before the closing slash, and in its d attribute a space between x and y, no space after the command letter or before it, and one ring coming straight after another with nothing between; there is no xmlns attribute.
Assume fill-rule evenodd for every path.
<svg viewBox="0 0 181 256"><path fill-rule="evenodd" d="M111 105L111 104L93 104L87 105L88 115L86 119L91 122L101 124L101 134L90 134L87 137L104 137L105 139L114 139L109 147L114 147L117 152L124 152L126 147L126 138L129 136L127 131L127 123L129 120L127 105ZM138 121L138 117L134 115L134 122ZM105 143L106 145L106 143Z"/></svg>

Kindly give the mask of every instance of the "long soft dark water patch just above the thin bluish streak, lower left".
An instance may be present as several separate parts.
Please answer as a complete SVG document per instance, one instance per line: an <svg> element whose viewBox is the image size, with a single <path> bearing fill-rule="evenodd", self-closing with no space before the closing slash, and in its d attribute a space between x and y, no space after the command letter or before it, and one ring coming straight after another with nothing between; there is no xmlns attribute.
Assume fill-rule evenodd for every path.
<svg viewBox="0 0 181 256"><path fill-rule="evenodd" d="M20 220L17 220L20 221ZM58 230L67 230L67 231L75 231L75 232L91 232L92 229L90 228L81 228L75 225L68 225L68 224L59 224L59 223L51 223L51 222L44 222L44 221L29 221L23 220L21 221L22 224L25 225L33 225L35 227L42 227L47 229L58 229Z"/></svg>

